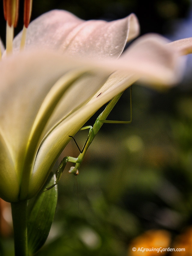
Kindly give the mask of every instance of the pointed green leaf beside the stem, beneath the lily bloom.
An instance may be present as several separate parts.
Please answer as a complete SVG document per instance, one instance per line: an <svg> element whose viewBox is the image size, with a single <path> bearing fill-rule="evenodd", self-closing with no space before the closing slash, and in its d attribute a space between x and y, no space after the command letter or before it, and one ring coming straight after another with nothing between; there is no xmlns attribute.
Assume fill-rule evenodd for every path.
<svg viewBox="0 0 192 256"><path fill-rule="evenodd" d="M55 182L55 177L49 175L45 184L48 187ZM57 205L57 186L49 191L45 187L36 197L28 202L27 206L27 236L29 252L34 254L45 243L55 215Z"/></svg>

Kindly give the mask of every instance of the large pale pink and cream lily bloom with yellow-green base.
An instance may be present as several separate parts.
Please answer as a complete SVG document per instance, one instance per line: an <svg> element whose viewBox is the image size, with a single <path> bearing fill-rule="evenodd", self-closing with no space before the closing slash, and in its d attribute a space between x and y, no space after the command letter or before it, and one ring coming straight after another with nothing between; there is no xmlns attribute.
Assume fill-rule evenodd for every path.
<svg viewBox="0 0 192 256"><path fill-rule="evenodd" d="M168 85L182 74L180 48L159 35L118 59L139 33L134 14L105 22L51 11L29 25L26 40L25 33L0 63L0 197L9 202L38 193L69 135L115 95L138 79Z"/></svg>

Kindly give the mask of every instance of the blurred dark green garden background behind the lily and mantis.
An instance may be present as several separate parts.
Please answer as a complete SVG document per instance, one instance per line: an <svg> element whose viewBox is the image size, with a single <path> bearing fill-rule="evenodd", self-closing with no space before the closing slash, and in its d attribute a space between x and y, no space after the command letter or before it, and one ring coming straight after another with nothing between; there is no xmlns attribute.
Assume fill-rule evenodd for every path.
<svg viewBox="0 0 192 256"><path fill-rule="evenodd" d="M192 36L183 35L190 24L190 6L189 0L34 0L32 19L55 8L71 11L85 20L115 20L134 12L140 21L141 34L161 33L174 40ZM20 9L22 14L22 2ZM2 6L1 20L4 41ZM22 26L20 15L16 33ZM190 62L187 67L191 69ZM129 97L128 89L110 119L129 120ZM77 177L67 173L70 164L66 167L58 184L58 206L50 235L36 255L144 255L133 252L132 245L143 245L145 240L146 248L155 247L156 237L165 247L189 246L191 253L190 72L177 87L163 92L134 85L132 104L132 123L104 124L88 149ZM87 125L93 125L100 112ZM83 145L86 136L83 131L76 135L79 145ZM79 155L73 141L61 159L66 155ZM166 233L162 233L162 238L154 233L143 240L141 235L145 236L148 230ZM150 244L153 240L154 244ZM6 236L3 228L0 241L0 255L11 255L12 235ZM190 253L165 255L192 255Z"/></svg>

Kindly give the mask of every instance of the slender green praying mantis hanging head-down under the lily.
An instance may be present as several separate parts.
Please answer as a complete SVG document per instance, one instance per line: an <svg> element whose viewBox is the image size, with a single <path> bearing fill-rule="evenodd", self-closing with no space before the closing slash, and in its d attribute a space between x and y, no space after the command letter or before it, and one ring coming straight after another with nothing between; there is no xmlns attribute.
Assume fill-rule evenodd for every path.
<svg viewBox="0 0 192 256"><path fill-rule="evenodd" d="M101 94L101 93L100 93ZM99 95L100 95L99 94ZM82 149L79 148L76 140L74 139L73 136L69 136L71 137L76 146L78 147L79 149L79 156L77 158L74 158L74 157L70 157L70 156L66 156L63 158L63 160L61 161L61 163L59 164L59 167L58 169L56 170L55 172L55 176L56 176L56 180L55 180L55 184L49 186L46 188L46 190L49 190L51 188L53 188L55 185L58 184L60 178L61 178L61 175L64 171L64 168L67 164L67 162L70 162L70 163L74 163L75 166L73 167L70 167L70 170L69 170L69 173L72 173L74 174L75 176L79 174L79 171L78 171L78 168L80 166L80 164L82 163L83 161L83 158L85 157L85 153L88 149L88 147L90 146L90 144L92 143L93 139L95 138L96 134L98 133L98 131L101 129L101 126L104 124L104 123L115 123L115 124L130 124L132 122L132 86L130 86L130 120L129 121L114 121L114 120L106 120L107 116L110 114L111 110L113 109L113 107L116 105L116 103L119 101L119 98L121 97L121 95L123 94L123 92L119 93L118 95L116 95L107 105L107 107L104 109L104 111L98 116L98 118L96 119L95 121L95 124L92 126L85 126L85 127L82 127L79 131L82 131L82 130L86 130L86 129L89 129L89 133L88 133L88 136L87 136L87 139L84 143L84 146L82 147ZM98 95L98 96L99 96ZM98 97L97 96L97 97ZM45 191L46 191L45 190Z"/></svg>

